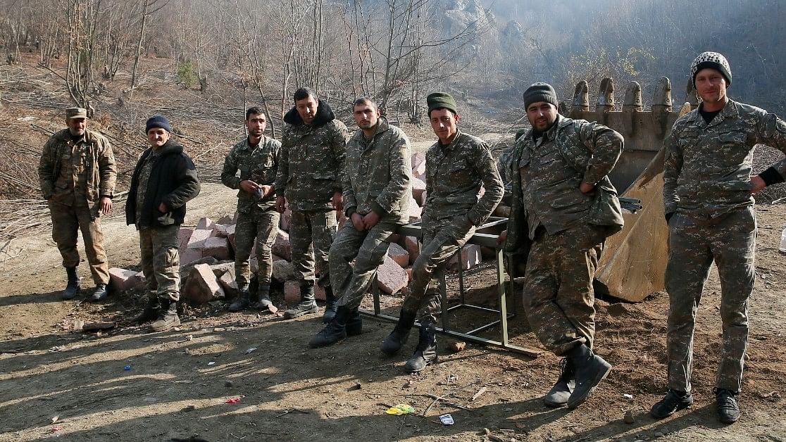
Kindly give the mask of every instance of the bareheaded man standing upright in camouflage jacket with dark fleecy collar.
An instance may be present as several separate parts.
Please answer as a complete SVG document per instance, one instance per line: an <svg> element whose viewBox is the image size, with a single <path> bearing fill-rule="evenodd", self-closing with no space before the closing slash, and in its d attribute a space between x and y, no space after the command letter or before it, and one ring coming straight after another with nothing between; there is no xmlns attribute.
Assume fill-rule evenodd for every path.
<svg viewBox="0 0 786 442"><path fill-rule="evenodd" d="M319 311L314 299L314 267L325 289L324 322L336 313L330 287L328 251L336 236L336 212L342 210L341 170L349 135L330 106L314 91L295 91L295 107L284 115L276 175L276 210L292 210L289 244L292 266L300 284L300 302L284 312L285 319ZM313 254L312 254L313 249Z"/></svg>

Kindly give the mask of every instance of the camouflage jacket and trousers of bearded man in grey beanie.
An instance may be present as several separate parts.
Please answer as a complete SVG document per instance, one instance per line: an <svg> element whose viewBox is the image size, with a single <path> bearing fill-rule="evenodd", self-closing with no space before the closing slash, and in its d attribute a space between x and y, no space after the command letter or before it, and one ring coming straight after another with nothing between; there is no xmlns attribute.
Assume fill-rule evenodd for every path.
<svg viewBox="0 0 786 442"><path fill-rule="evenodd" d="M531 130L516 141L518 174L505 247L529 248L523 287L527 319L557 356L581 343L593 345L592 281L608 231L590 224L597 196L578 188L611 186L607 174L622 149L623 137L614 130L561 115L538 141Z"/></svg>

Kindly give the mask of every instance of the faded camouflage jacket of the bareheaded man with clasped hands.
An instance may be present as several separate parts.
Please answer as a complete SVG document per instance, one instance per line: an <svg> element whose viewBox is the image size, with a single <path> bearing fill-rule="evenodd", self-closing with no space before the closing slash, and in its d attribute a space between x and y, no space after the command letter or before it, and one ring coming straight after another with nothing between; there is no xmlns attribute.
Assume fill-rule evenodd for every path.
<svg viewBox="0 0 786 442"><path fill-rule="evenodd" d="M411 192L410 140L398 127L380 117L376 133L366 141L362 130L347 143L343 173L344 211L368 214L405 224Z"/></svg>

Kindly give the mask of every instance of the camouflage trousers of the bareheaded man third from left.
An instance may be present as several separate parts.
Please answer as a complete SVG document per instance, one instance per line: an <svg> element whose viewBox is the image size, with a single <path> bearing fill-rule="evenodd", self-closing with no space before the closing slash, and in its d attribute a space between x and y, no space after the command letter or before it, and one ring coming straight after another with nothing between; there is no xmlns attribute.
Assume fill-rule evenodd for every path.
<svg viewBox="0 0 786 442"><path fill-rule="evenodd" d="M235 275L237 287L248 287L251 282L251 265L248 258L256 244L256 260L259 270L256 277L259 285L270 286L270 273L273 271L273 254L270 247L278 233L279 214L273 209L261 210L252 207L247 213L241 212L235 226Z"/></svg>

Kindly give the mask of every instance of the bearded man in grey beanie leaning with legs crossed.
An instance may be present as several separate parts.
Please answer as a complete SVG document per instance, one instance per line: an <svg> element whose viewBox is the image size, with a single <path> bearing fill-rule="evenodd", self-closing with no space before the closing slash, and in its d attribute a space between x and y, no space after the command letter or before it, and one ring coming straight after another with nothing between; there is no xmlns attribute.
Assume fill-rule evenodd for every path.
<svg viewBox="0 0 786 442"><path fill-rule="evenodd" d="M606 126L557 112L552 86L523 94L531 130L516 140L511 214L505 251L526 259L527 319L538 339L563 356L562 373L543 398L578 407L611 370L593 353L593 278L604 239L623 226L608 180L623 137Z"/></svg>

